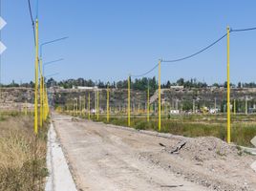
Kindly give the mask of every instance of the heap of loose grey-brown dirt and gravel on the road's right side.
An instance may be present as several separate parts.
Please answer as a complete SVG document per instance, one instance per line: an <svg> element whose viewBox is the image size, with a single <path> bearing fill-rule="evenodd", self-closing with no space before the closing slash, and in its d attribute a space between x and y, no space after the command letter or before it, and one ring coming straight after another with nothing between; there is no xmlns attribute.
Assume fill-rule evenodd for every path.
<svg viewBox="0 0 256 191"><path fill-rule="evenodd" d="M213 190L254 190L256 187L256 174L250 168L256 158L220 138L171 138L160 146L169 156L165 159L153 156L152 161L169 162L168 168L187 180Z"/></svg>

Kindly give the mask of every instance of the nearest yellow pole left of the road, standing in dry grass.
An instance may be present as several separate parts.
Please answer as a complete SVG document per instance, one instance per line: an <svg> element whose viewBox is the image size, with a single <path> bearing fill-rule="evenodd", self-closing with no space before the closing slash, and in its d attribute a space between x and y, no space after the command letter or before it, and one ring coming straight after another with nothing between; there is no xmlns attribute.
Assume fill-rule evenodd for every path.
<svg viewBox="0 0 256 191"><path fill-rule="evenodd" d="M35 83L34 83L34 134L38 133L38 19L35 20Z"/></svg>

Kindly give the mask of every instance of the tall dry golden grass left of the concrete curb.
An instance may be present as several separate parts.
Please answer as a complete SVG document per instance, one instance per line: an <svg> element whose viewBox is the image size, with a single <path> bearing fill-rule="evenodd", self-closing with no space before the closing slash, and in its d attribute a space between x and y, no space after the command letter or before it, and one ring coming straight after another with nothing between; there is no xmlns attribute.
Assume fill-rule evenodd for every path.
<svg viewBox="0 0 256 191"><path fill-rule="evenodd" d="M46 128L33 136L33 118L1 117L0 190L43 190L47 176ZM36 146L35 146L36 145Z"/></svg>

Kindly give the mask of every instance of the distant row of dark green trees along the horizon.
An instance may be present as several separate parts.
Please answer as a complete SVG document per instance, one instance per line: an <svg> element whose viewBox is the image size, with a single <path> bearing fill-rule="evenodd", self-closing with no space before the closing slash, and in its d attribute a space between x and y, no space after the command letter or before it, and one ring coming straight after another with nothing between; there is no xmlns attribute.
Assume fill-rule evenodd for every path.
<svg viewBox="0 0 256 191"><path fill-rule="evenodd" d="M62 81L55 81L53 78L50 78L46 81L47 87L51 86L59 86L65 89L73 88L77 86L88 86L94 87L97 86L99 88L106 88L108 85L110 88L118 88L118 89L125 89L128 86L128 80L119 80L114 82L103 82L103 81L93 81L92 79L84 79L84 78L77 78L77 79L67 79ZM151 90L157 90L158 88L158 81L156 77L147 78L136 78L131 80L131 88L134 90L144 91L147 87L150 87ZM183 86L184 88L206 88L209 85L206 82L198 81L196 78L191 78L190 80L185 80L184 78L178 79L176 82L170 82L169 80L166 83L161 84L161 88L170 88L171 86ZM227 83L214 83L211 86L214 87L224 87L226 88ZM230 84L233 88L256 88L255 82L250 83L242 83L238 82L237 85ZM34 83L31 81L30 83L15 83L14 80L10 84L3 85L2 87L27 87L32 88L34 87Z"/></svg>

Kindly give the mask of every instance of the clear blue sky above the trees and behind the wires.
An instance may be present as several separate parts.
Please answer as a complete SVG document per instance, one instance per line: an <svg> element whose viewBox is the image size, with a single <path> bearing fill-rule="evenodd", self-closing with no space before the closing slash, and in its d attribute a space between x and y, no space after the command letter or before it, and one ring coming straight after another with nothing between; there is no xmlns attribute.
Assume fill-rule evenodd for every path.
<svg viewBox="0 0 256 191"><path fill-rule="evenodd" d="M35 0L32 0L33 15ZM44 49L43 61L65 60L46 68L57 80L113 81L142 74L159 58L195 53L233 29L256 26L255 0L39 0L39 43L69 36ZM2 41L4 83L33 80L32 23L27 0L2 0L7 26ZM230 36L232 82L256 81L256 31ZM154 71L148 76L157 75ZM162 81L196 77L224 82L226 39L196 57L162 64Z"/></svg>

